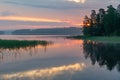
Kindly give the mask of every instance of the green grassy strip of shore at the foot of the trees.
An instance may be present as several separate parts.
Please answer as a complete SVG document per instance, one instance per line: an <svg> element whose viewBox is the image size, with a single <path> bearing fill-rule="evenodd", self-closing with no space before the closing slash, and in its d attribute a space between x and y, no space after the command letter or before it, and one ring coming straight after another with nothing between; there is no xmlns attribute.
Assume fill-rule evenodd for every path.
<svg viewBox="0 0 120 80"><path fill-rule="evenodd" d="M68 37L72 39L82 39L82 40L92 40L98 42L105 42L105 43L120 43L120 37L118 36L72 36Z"/></svg>

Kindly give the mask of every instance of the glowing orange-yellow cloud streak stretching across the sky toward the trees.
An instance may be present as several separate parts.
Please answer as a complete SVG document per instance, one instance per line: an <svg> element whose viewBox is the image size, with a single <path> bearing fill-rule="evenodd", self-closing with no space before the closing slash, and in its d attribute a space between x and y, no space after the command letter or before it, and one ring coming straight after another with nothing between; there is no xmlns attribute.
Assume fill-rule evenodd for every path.
<svg viewBox="0 0 120 80"><path fill-rule="evenodd" d="M34 18L34 17L21 17L21 16L0 16L0 20L67 23L70 26L82 25L80 24L79 21L75 21L75 20L60 20L60 19L47 19L47 18Z"/></svg>

